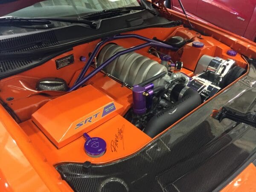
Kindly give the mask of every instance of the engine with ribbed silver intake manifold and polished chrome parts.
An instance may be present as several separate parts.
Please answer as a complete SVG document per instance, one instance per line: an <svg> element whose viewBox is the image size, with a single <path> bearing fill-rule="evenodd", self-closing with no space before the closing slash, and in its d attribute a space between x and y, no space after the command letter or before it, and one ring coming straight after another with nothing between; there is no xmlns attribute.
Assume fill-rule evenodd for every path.
<svg viewBox="0 0 256 192"><path fill-rule="evenodd" d="M107 44L99 53L97 65L124 49ZM180 72L182 62L173 63L169 55L152 49L160 55L160 64L130 52L104 68L105 73L133 90L133 107L125 118L150 137L164 131L245 73L232 59L202 55L195 68L196 75L189 77Z"/></svg>

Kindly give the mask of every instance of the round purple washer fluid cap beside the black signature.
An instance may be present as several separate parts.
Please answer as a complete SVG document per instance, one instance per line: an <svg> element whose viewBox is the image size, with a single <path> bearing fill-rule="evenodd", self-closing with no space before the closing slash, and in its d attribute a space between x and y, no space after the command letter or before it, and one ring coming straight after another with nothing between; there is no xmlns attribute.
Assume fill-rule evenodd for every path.
<svg viewBox="0 0 256 192"><path fill-rule="evenodd" d="M86 139L84 143L84 150L90 157L101 157L106 152L107 144L105 140L100 137L90 137L87 133L83 134Z"/></svg>

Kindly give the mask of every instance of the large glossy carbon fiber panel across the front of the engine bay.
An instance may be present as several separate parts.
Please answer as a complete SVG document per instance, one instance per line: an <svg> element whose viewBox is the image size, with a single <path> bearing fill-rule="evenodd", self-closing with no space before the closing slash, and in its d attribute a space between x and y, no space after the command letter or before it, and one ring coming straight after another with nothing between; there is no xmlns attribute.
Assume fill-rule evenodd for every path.
<svg viewBox="0 0 256 192"><path fill-rule="evenodd" d="M128 158L90 169L81 163L61 164L56 169L80 192L212 191L256 150L255 128L229 119L219 123L210 116L213 109L236 103L234 98L248 97L247 90L255 93L255 84L248 79L252 76L244 77ZM249 106L252 103L233 108L255 108Z"/></svg>

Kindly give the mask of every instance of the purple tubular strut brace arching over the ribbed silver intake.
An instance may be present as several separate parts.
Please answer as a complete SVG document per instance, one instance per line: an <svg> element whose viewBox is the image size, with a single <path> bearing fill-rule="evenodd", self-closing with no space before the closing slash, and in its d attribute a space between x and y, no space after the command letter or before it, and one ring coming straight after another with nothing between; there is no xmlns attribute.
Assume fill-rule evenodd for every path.
<svg viewBox="0 0 256 192"><path fill-rule="evenodd" d="M91 62L93 61L93 58L96 56L97 52L99 51L99 48L105 44L108 41L112 41L115 39L121 39L121 38L138 38L143 41L147 41L148 43L145 44L140 44L138 46L134 46L128 49L125 49L123 51L115 53L111 58L108 58L107 61L105 61L103 64L101 64L99 67L96 67L91 73L89 73L87 76L84 77L84 74L87 72L88 68L90 67ZM76 90L78 87L80 87L82 84L84 84L86 81L88 81L90 78L92 78L96 73L98 73L100 70L102 70L104 67L106 67L108 64L110 64L114 59L117 57L127 54L129 52L136 51L138 49L142 49L144 47L148 46L155 46L155 47L161 47L161 48L166 48L166 49L172 49L172 50L177 50L178 48L172 47L171 45L164 44L159 41L155 41L149 38L145 38L140 35L115 35L113 38L107 38L97 44L95 49L93 50L93 53L90 55L90 58L88 59L87 63L84 65L84 68L81 70L81 73L79 74L78 79L76 80L75 84L70 87L69 91Z"/></svg>

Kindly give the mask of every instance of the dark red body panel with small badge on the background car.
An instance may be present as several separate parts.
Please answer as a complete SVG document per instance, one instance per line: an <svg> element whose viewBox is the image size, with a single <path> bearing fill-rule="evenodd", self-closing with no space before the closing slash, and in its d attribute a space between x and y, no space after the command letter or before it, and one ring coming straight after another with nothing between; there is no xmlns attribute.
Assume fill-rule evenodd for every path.
<svg viewBox="0 0 256 192"><path fill-rule="evenodd" d="M256 0L198 0L195 15L243 36L255 4Z"/></svg>

